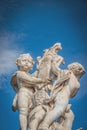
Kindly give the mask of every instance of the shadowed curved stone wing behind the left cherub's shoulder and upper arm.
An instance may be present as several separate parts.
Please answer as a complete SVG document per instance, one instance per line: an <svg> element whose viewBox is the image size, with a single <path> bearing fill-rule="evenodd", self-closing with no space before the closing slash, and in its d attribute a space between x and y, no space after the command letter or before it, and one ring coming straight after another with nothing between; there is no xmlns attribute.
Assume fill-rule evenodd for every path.
<svg viewBox="0 0 87 130"><path fill-rule="evenodd" d="M15 92L18 92L18 85L17 85L17 72L15 72L13 75L12 75L12 78L11 78L11 81L10 81L13 89Z"/></svg>

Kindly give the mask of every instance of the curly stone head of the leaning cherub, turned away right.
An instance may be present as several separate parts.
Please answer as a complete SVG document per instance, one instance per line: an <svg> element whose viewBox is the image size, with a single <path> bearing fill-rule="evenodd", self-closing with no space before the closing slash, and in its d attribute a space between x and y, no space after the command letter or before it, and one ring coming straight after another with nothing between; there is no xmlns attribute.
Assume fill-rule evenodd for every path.
<svg viewBox="0 0 87 130"><path fill-rule="evenodd" d="M81 78L85 73L84 67L78 62L74 62L74 63L69 64L68 69L73 71L73 73L76 76L78 76L79 78Z"/></svg>

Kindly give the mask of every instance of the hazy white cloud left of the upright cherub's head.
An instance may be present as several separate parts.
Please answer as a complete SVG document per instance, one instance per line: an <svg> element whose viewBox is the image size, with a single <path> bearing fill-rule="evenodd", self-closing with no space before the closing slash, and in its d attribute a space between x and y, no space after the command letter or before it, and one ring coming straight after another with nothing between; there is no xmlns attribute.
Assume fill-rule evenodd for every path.
<svg viewBox="0 0 87 130"><path fill-rule="evenodd" d="M23 53L17 44L17 40L21 37L23 37L21 34L0 34L0 75L8 74L16 69L15 60Z"/></svg>

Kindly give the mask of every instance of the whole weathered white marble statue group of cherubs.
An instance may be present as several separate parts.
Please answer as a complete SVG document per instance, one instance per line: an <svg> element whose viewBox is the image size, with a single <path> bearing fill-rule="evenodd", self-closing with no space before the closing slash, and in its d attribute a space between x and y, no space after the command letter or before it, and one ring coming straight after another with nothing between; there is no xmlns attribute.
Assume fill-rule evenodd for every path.
<svg viewBox="0 0 87 130"><path fill-rule="evenodd" d="M61 69L65 61L59 50L61 43L44 50L32 74L29 71L34 60L30 54L22 54L16 60L18 71L11 78L16 92L12 110L19 111L21 130L72 130L74 113L69 100L77 94L85 69L78 62Z"/></svg>

